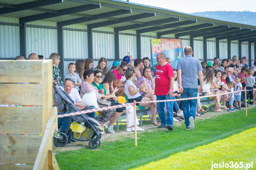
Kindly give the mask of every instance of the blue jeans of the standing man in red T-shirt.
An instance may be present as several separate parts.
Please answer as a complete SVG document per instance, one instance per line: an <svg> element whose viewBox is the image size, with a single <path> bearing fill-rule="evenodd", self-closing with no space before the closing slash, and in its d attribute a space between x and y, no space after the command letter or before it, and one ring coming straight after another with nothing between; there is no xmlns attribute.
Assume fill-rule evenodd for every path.
<svg viewBox="0 0 256 170"><path fill-rule="evenodd" d="M169 95L156 95L156 100L169 100L169 99L175 99L170 98ZM164 111L164 103L166 103L166 109L167 109L167 118L165 116L165 111ZM166 126L170 124L173 126L173 101L168 101L168 102L158 102L156 103L157 110L158 110L158 116L161 119L161 124Z"/></svg>

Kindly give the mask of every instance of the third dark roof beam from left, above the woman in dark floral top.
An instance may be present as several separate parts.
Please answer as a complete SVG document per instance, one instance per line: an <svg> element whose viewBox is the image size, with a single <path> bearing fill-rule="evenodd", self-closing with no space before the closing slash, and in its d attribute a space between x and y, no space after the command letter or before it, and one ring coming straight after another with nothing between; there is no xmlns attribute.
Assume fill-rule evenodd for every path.
<svg viewBox="0 0 256 170"><path fill-rule="evenodd" d="M57 22L58 26L66 26L66 25L72 25L72 24L79 24L82 22L88 22L88 21L92 21L92 20L99 20L99 19L103 19L103 18L108 18L108 17L114 17L117 15L123 15L123 14L128 14L131 13L130 10L125 10L125 9L120 9L117 11L111 11L111 12L105 12L102 14L96 14L93 15L92 18L88 18L88 17L82 17L82 18L76 18L76 19L72 19L72 20L66 20L66 21L61 21L61 22Z"/></svg>

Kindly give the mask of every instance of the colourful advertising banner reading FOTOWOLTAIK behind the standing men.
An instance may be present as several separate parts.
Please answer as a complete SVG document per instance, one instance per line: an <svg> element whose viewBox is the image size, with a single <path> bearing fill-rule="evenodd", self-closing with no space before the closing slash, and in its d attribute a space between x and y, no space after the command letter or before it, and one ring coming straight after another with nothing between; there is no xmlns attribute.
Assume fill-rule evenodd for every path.
<svg viewBox="0 0 256 170"><path fill-rule="evenodd" d="M176 69L179 59L184 57L182 42L180 39L151 39L152 65L156 65L158 53L164 53L171 59L171 66Z"/></svg>

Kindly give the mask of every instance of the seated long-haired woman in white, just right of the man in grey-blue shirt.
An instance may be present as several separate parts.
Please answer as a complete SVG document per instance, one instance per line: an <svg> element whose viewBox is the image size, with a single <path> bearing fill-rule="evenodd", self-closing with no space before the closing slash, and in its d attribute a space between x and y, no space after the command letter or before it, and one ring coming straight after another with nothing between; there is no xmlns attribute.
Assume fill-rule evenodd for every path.
<svg viewBox="0 0 256 170"><path fill-rule="evenodd" d="M212 91L210 89L212 88L222 88L222 86L217 86L215 84L215 81L213 79L214 72L212 69L206 69L204 75L203 75L203 93L202 96L208 96L208 95L214 95L214 94L220 94L219 90ZM213 84L213 86L211 86ZM220 96L215 96L214 97L214 103L215 103L215 110L216 112L222 112L221 108L225 108L224 106L220 105Z"/></svg>

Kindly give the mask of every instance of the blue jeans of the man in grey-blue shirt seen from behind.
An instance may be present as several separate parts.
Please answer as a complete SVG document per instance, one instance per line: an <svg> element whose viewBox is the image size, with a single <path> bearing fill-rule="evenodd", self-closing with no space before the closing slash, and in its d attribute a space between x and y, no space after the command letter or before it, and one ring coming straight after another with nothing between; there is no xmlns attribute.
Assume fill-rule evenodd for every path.
<svg viewBox="0 0 256 170"><path fill-rule="evenodd" d="M197 92L198 92L197 88L183 88L183 93L181 93L181 98L197 97ZM197 104L197 99L182 101L183 114L185 118L186 127L188 127L190 124L189 117L192 116L195 119L196 104Z"/></svg>

